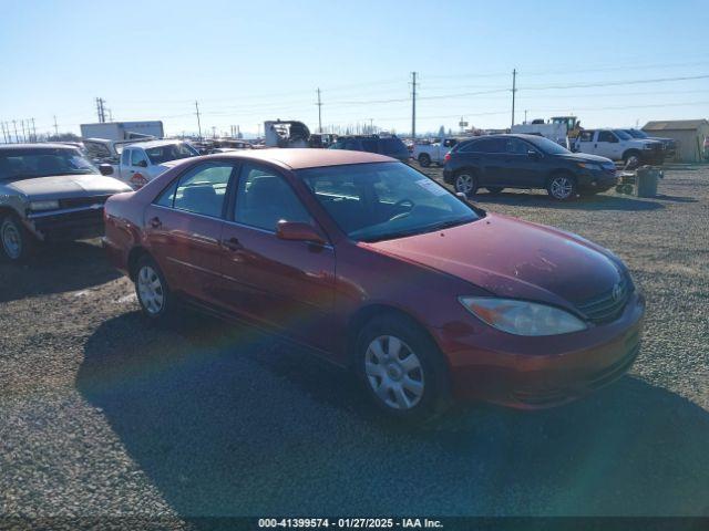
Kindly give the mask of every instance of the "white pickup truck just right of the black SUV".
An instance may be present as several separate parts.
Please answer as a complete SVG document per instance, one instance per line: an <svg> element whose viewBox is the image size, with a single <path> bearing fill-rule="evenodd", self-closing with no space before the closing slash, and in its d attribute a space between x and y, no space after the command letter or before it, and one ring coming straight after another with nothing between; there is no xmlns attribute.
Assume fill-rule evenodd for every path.
<svg viewBox="0 0 709 531"><path fill-rule="evenodd" d="M575 146L580 153L623 160L628 168L640 164L662 164L665 160L661 142L634 138L620 129L584 129Z"/></svg>

